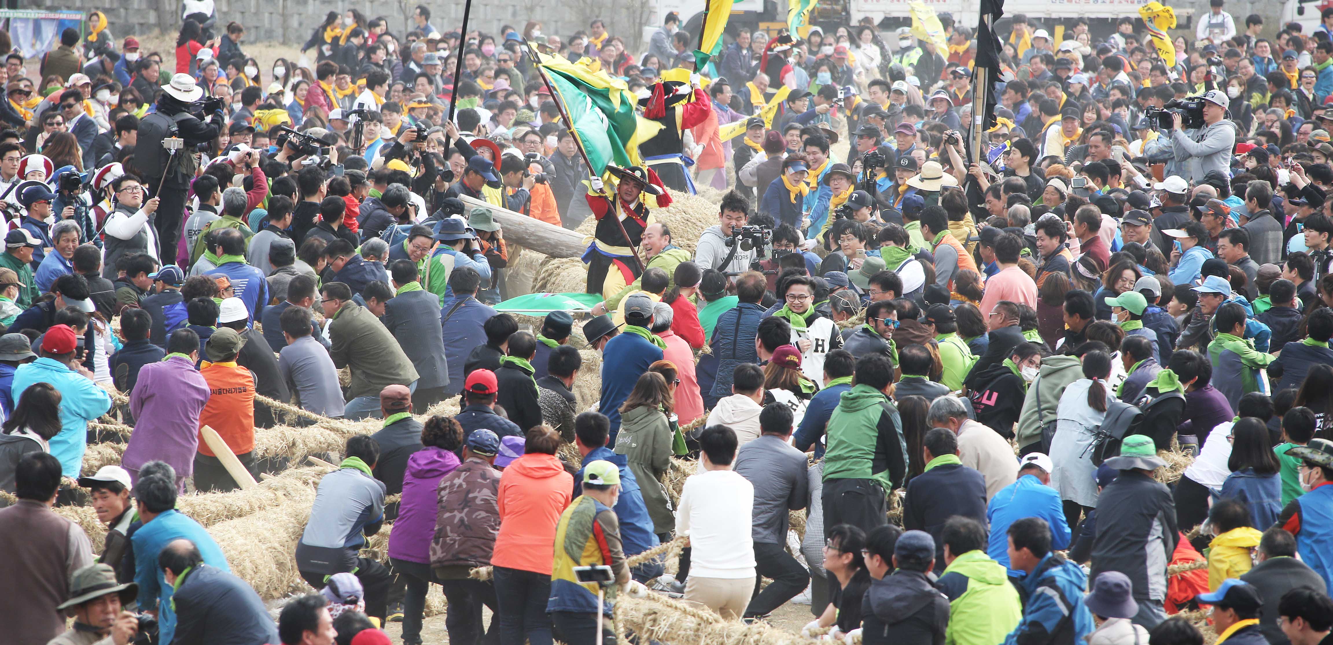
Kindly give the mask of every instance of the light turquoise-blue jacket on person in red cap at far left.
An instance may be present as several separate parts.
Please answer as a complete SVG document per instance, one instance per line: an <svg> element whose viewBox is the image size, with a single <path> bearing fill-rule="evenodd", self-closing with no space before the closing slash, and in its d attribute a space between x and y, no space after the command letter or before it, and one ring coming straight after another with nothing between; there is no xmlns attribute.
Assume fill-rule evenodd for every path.
<svg viewBox="0 0 1333 645"><path fill-rule="evenodd" d="M111 409L111 396L83 374L52 358L37 358L27 365L19 365L13 373L9 393L15 405L23 390L35 382L49 382L60 390L60 432L51 437L51 454L60 460L60 470L65 477L79 477L83 470L83 453L88 445L88 421ZM156 556L153 562L157 562Z"/></svg>

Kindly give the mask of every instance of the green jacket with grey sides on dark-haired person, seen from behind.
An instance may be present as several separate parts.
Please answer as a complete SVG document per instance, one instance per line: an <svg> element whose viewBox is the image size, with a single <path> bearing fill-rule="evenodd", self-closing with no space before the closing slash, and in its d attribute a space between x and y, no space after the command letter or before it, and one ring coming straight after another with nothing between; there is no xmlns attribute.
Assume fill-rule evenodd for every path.
<svg viewBox="0 0 1333 645"><path fill-rule="evenodd" d="M908 444L898 409L882 392L853 385L829 416L828 429L825 481L876 480L885 492L902 485Z"/></svg>

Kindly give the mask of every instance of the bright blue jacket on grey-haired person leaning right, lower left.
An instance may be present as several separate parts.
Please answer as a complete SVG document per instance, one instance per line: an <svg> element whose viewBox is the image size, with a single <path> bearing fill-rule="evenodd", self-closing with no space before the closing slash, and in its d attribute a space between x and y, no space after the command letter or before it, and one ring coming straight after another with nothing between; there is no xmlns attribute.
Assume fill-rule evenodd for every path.
<svg viewBox="0 0 1333 645"><path fill-rule="evenodd" d="M179 538L195 542L199 553L204 556L204 564L228 573L232 570L227 565L227 556L223 554L223 549L217 546L213 537L189 516L177 513L176 510L164 510L151 522L140 526L129 537L129 542L135 548L135 582L139 584L139 609L157 609L159 642L171 642L176 636L176 609L171 601L175 590L167 584L161 566L157 566L157 554L161 553L163 546ZM189 577L187 576L185 580L188 581Z"/></svg>

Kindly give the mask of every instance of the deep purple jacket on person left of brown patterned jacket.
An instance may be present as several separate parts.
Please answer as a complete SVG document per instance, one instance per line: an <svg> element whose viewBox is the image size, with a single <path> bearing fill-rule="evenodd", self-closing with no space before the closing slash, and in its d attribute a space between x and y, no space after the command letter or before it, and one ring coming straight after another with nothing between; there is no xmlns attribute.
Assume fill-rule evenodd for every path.
<svg viewBox="0 0 1333 645"><path fill-rule="evenodd" d="M431 540L439 513L436 489L440 478L459 468L459 456L444 448L427 446L408 457L403 474L403 501L389 533L389 557L431 564Z"/></svg>

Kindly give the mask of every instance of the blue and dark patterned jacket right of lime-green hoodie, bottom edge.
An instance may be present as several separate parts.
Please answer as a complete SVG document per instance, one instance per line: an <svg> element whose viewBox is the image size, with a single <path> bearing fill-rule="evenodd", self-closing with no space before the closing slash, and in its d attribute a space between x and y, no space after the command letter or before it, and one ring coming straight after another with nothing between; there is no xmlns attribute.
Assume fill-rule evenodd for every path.
<svg viewBox="0 0 1333 645"><path fill-rule="evenodd" d="M1022 596L1028 600L1022 608L1022 620L1005 638L1005 645L1029 642L1074 645L1084 642L1084 636L1096 629L1092 612L1082 604L1086 586L1088 574L1081 566L1065 560L1058 553L1048 553L1037 564L1037 568L1022 580ZM1053 593L1038 593L1041 588ZM1052 640L1049 634L1056 630L1056 626L1070 610L1073 612L1073 621L1069 625L1072 629Z"/></svg>

